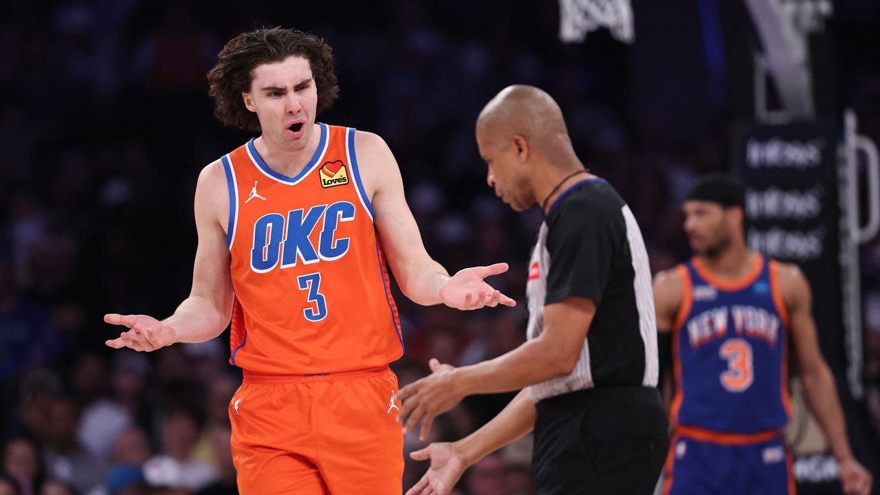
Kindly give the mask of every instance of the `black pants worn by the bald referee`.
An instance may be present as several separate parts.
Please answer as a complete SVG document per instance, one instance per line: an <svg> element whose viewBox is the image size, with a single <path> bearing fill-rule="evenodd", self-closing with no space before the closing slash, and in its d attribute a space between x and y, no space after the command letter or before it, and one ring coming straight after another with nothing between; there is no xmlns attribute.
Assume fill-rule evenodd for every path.
<svg viewBox="0 0 880 495"><path fill-rule="evenodd" d="M537 495L653 493L669 447L656 388L577 390L541 400L537 410Z"/></svg>

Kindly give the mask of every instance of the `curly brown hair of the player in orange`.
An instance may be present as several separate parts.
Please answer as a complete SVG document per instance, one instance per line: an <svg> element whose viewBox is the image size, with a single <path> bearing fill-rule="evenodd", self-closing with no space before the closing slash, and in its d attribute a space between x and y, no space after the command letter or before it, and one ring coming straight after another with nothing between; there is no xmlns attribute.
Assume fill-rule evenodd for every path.
<svg viewBox="0 0 880 495"><path fill-rule="evenodd" d="M217 55L208 71L208 94L214 98L214 115L226 125L260 130L257 115L245 107L242 92L251 91L253 68L260 63L282 62L290 55L302 55L312 66L318 90L318 113L333 107L339 85L333 66L333 48L314 34L282 27L262 28L238 34Z"/></svg>

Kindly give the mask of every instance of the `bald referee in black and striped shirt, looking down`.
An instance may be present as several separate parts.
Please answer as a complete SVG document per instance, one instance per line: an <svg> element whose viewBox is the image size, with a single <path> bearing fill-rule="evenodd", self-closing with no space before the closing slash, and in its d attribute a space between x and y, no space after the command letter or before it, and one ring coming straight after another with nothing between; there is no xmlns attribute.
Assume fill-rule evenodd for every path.
<svg viewBox="0 0 880 495"><path fill-rule="evenodd" d="M627 203L577 158L546 92L513 85L477 121L488 185L516 211L544 211L529 262L528 341L473 366L441 365L400 390L398 419L422 439L466 395L519 390L465 439L412 454L431 461L407 495L444 495L475 462L534 430L540 495L649 494L668 423L656 389L656 321L648 255Z"/></svg>

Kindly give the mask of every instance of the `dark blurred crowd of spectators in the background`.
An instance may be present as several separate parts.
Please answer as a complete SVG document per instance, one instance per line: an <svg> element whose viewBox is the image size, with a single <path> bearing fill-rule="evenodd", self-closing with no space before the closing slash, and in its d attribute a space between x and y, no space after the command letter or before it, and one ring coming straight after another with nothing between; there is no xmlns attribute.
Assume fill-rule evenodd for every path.
<svg viewBox="0 0 880 495"><path fill-rule="evenodd" d="M674 22L698 3L654 14ZM284 25L325 37L341 99L319 119L385 137L429 254L449 270L510 262L494 284L516 308L461 313L397 293L401 386L429 373L429 358L466 365L524 341L525 264L541 213L517 215L495 198L473 139L480 108L505 85L538 85L560 102L583 161L631 205L653 270L689 255L680 202L695 176L728 167L732 125L723 95L706 87L705 61L684 48L701 42L699 28L669 30L640 17L636 1L633 47L607 33L562 45L554 3L427 4L356 3L344 13L241 0L207 10L140 0L4 6L0 495L237 492L228 408L240 373L227 364L228 334L149 355L111 351L104 342L118 329L101 316L163 318L187 297L195 179L250 137L216 122L204 77L242 31ZM652 36L670 51L653 50ZM880 140L880 59L845 60L844 99ZM880 426L880 242L862 263L868 403ZM430 440L472 432L510 397L468 398ZM407 436L407 453L423 445ZM530 458L526 438L475 465L456 492L530 493ZM424 469L407 457L405 486Z"/></svg>

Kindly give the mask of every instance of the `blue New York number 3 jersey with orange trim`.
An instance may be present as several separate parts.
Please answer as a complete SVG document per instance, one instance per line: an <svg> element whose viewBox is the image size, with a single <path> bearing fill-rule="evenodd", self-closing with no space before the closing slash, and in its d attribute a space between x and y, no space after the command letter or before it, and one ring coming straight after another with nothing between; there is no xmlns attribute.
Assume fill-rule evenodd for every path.
<svg viewBox="0 0 880 495"><path fill-rule="evenodd" d="M728 282L699 258L679 265L673 424L752 434L788 423L788 314L777 270L755 255L750 273Z"/></svg>

